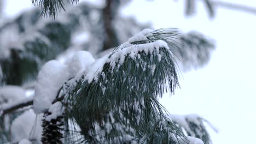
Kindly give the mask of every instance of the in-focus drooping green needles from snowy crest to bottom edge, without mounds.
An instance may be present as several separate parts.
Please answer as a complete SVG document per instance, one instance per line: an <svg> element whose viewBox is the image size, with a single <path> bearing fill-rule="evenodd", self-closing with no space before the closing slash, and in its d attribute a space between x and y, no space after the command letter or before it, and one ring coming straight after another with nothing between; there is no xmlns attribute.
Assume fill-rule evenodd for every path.
<svg viewBox="0 0 256 144"><path fill-rule="evenodd" d="M77 82L62 102L66 109L65 137L72 137L67 123L73 119L71 124L78 125L81 130L77 131L77 135L82 135L78 137L93 141L94 136L88 134L94 131L94 122L104 124L102 121L106 113L121 112L121 115L118 114L118 122L131 124L131 128L136 131L137 141L178 143L185 139L171 122L168 123L171 125L164 126L166 124L162 122L167 122L165 109L157 100L167 89L173 93L178 86L170 48L177 46L175 39L178 38L176 29L145 29L109 55L97 59L82 77L76 78ZM164 133L156 130L158 128L152 129L160 123L163 124L161 128L166 130ZM155 136L143 140L150 135Z"/></svg>

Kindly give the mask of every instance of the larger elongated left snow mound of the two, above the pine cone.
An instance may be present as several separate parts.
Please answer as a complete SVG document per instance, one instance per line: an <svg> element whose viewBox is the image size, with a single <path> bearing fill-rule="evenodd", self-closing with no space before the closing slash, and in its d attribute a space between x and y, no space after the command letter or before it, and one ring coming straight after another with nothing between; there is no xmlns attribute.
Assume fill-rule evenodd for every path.
<svg viewBox="0 0 256 144"><path fill-rule="evenodd" d="M49 109L63 82L70 77L67 67L56 60L44 64L38 73L33 110L41 113Z"/></svg>

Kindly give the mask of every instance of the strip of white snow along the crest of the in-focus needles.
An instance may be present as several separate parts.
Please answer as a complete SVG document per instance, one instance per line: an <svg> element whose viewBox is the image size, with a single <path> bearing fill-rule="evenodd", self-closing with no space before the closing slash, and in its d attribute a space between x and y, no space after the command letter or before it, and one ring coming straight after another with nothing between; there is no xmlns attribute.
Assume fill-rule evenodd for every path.
<svg viewBox="0 0 256 144"><path fill-rule="evenodd" d="M114 69L114 67L116 66L115 61L119 61L119 64L121 65L124 63L124 59L126 56L130 56L131 58L133 58L133 55L137 55L139 52L142 51L152 54L154 51L159 52L160 47L165 47L165 49L169 49L168 45L163 40L156 40L152 43L131 46L130 44L124 43L114 53L109 53L108 55L97 59L96 62L91 65L90 69L85 71L85 80L88 80L88 83L92 82L92 80L97 81L98 74L101 73L103 66L106 63L110 63L112 69ZM133 54L131 55L131 53ZM156 56L159 56L158 54L159 53L157 53Z"/></svg>

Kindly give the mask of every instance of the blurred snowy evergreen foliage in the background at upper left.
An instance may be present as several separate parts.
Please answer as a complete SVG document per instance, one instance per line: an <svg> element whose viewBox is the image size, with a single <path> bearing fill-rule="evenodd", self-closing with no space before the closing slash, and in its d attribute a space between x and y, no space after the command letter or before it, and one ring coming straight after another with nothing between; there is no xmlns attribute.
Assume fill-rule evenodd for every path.
<svg viewBox="0 0 256 144"><path fill-rule="evenodd" d="M14 45L3 45L0 49L0 64L3 71L2 83L5 85L22 85L27 81L34 80L40 67L46 61L56 58L61 52L75 45L72 38L79 31L89 33L90 39L93 39L94 43L88 41L88 43L75 46L89 50L93 54L101 51L104 41L101 35L104 35L104 31L100 28L103 22L102 19L94 21L91 17L92 11L102 14L102 9L83 3L68 8L67 13L63 13L60 19L49 21L39 19L40 9L33 9L25 11L13 21L2 25L0 33L4 37L9 37L9 32L13 32L15 29L17 29L15 35L18 37L17 41L11 41ZM126 25L129 27L138 30L145 27L138 25L132 19L124 18L115 19L113 25L120 26L119 23L127 23ZM131 32L129 27L115 30L115 34L119 36L117 44L122 43L124 39L131 37L138 31ZM4 37L1 37L1 40L5 39ZM6 50L9 50L8 53L10 53L8 57L2 56Z"/></svg>

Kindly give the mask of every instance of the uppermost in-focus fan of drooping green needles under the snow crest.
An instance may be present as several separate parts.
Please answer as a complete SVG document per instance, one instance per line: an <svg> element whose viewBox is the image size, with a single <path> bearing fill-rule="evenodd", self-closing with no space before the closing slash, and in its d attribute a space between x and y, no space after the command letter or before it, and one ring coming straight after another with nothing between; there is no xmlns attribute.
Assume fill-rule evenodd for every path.
<svg viewBox="0 0 256 144"><path fill-rule="evenodd" d="M136 43L136 41L132 43ZM147 46L150 47L148 50L147 48L143 49L143 47ZM156 48L155 46L159 47ZM82 85L82 91L75 94L77 95L75 96L75 98L82 98L81 102L83 101L86 107L90 106L91 104L101 103L101 101L104 101L104 104L100 104L100 106L125 106L126 103L131 102L126 101L128 100L126 99L126 94L132 93L134 91L141 91L141 93L144 93L139 93L137 95L132 94L131 98L129 99L135 101L141 99L141 95L147 95L152 93L155 96L158 94L162 95L162 93L167 88L165 80L168 80L168 82L170 83L170 86L168 86L168 88L170 88L170 91L173 92L174 88L178 85L177 74L175 71L174 63L172 62L171 52L166 46L165 43L161 43L161 41L152 39L152 43L144 45L142 44L141 48L140 45L119 47L110 55L98 59L98 64L100 64L100 67L97 66L97 63L95 63L95 67L98 68L92 69L91 71L89 70L87 74L84 75L78 85L79 87L81 87ZM147 51L150 51L150 53L148 53ZM94 67L94 65L92 65L92 68ZM123 72L120 73L120 71ZM161 75L168 76L161 77ZM147 79L145 79L145 77L147 77ZM155 80L153 82L154 77ZM130 85L129 83L133 82L135 84L133 88L126 87ZM148 85L148 88L146 88L146 85L144 85L144 83L147 83L147 85L148 83L154 83L155 85ZM104 89L104 91L102 91L102 93L98 93L98 89ZM86 93L86 97L84 96L84 91L89 91ZM113 95L119 95L119 98L115 98L113 97ZM98 99L94 99L94 97ZM98 108L100 108L100 110L107 109L107 107L87 108L88 110L98 110Z"/></svg>

